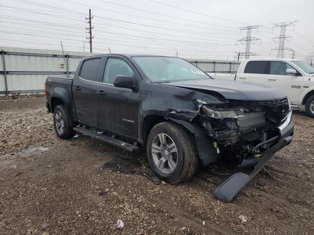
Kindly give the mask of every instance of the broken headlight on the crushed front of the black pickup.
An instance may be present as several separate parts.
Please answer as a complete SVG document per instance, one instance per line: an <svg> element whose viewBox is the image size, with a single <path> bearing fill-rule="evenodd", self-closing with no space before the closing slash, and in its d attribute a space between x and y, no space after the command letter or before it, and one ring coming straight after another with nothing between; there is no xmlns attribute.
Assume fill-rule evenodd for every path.
<svg viewBox="0 0 314 235"><path fill-rule="evenodd" d="M215 109L206 105L202 105L204 113L209 118L224 119L224 118L238 118L244 113L243 108L235 109Z"/></svg>

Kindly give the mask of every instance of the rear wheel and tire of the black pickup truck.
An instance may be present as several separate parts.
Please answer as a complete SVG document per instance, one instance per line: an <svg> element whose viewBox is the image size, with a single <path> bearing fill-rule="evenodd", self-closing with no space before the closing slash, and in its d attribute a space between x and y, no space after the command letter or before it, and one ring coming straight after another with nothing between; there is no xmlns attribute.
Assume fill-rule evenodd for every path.
<svg viewBox="0 0 314 235"><path fill-rule="evenodd" d="M54 108L53 125L55 133L60 139L70 139L74 136L75 132L63 105L58 105Z"/></svg>

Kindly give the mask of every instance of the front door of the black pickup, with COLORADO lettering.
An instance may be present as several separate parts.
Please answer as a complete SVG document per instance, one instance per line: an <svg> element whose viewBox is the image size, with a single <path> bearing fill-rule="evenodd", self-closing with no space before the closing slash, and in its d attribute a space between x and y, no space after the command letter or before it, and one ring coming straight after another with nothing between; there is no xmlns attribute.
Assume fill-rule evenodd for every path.
<svg viewBox="0 0 314 235"><path fill-rule="evenodd" d="M138 91L113 86L116 75L139 78L135 68L123 57L108 57L105 71L97 85L98 126L106 130L138 138Z"/></svg>

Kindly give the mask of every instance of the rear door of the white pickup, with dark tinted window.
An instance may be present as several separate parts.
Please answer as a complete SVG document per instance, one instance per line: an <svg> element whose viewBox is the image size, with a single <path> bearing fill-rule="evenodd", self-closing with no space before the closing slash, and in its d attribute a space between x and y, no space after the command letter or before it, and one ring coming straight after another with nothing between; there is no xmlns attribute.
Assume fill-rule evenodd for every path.
<svg viewBox="0 0 314 235"><path fill-rule="evenodd" d="M241 82L266 83L267 61L253 60L248 61L244 66L244 71L240 71L236 80Z"/></svg>

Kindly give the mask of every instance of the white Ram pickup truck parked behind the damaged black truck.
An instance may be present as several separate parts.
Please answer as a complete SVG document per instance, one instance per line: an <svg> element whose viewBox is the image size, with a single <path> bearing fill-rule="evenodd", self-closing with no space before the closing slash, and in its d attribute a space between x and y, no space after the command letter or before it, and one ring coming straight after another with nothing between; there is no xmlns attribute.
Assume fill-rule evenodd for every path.
<svg viewBox="0 0 314 235"><path fill-rule="evenodd" d="M280 88L291 107L304 109L314 118L314 68L299 60L246 59L237 73L208 73L215 79L255 82Z"/></svg>

